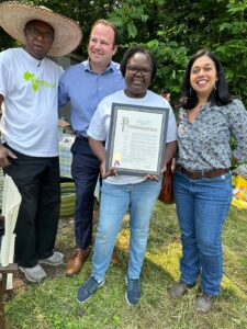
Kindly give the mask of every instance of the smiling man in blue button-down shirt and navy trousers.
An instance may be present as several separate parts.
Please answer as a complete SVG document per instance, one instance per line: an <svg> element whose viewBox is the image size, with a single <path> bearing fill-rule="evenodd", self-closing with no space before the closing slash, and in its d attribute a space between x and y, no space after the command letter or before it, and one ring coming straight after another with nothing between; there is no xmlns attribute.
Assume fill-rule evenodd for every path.
<svg viewBox="0 0 247 329"><path fill-rule="evenodd" d="M125 87L119 64L112 61L116 49L115 26L105 20L98 20L91 30L88 60L71 66L59 81L59 106L70 101L71 126L76 135L71 147L71 173L77 194L76 249L68 261L66 275L79 273L91 252L93 192L100 173L100 161L89 147L87 129L99 102Z"/></svg>

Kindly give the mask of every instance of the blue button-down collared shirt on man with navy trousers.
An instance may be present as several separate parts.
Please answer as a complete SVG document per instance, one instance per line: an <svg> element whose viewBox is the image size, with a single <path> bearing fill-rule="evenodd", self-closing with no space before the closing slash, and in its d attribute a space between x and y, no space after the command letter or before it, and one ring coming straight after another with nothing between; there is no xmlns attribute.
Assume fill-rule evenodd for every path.
<svg viewBox="0 0 247 329"><path fill-rule="evenodd" d="M89 60L69 67L59 80L58 103L63 106L70 101L70 121L75 134L87 136L99 102L124 87L120 65L114 61L100 75L90 69Z"/></svg>

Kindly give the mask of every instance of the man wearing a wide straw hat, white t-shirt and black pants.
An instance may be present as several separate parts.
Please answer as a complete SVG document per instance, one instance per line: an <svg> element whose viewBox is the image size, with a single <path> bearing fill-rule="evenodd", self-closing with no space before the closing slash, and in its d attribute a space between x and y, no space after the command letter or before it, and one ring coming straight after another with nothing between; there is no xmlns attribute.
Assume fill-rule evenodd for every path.
<svg viewBox="0 0 247 329"><path fill-rule="evenodd" d="M57 265L64 259L53 251L60 202L57 87L63 70L46 55L74 50L81 30L46 8L18 2L0 3L0 25L23 44L0 53L0 166L22 196L15 261L29 281L40 282L46 277L41 263Z"/></svg>

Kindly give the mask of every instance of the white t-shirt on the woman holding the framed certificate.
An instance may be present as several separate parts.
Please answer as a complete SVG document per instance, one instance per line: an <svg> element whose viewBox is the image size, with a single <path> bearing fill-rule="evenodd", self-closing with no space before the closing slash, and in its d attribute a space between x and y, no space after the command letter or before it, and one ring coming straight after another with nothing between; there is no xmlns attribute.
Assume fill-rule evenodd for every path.
<svg viewBox="0 0 247 329"><path fill-rule="evenodd" d="M169 107L167 143L177 140L177 124L173 111L168 101L160 95L147 90L147 93L142 99L128 98L123 90L117 91L104 98L98 105L91 123L89 125L88 135L97 140L106 140L111 121L112 103L133 104L153 107ZM143 177L119 174L117 177L109 177L108 183L112 184L134 184L144 181Z"/></svg>

